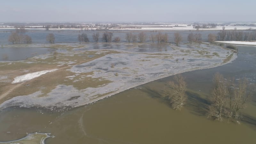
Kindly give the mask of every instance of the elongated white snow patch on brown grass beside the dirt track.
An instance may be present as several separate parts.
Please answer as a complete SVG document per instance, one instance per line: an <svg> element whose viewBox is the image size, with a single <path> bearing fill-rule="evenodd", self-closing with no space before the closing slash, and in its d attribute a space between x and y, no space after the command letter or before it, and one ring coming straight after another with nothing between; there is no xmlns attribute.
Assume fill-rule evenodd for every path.
<svg viewBox="0 0 256 144"><path fill-rule="evenodd" d="M41 75L44 75L44 74L47 74L49 72L53 72L53 71L56 71L56 70L58 70L58 69L37 71L37 72L34 72L34 73L28 73L28 74L25 74L25 75L22 75L22 76L16 76L14 78L14 81L12 82L12 84L21 83L21 82L24 82L24 81L27 81L27 80L31 80L33 78L36 78L38 76L41 76Z"/></svg>

